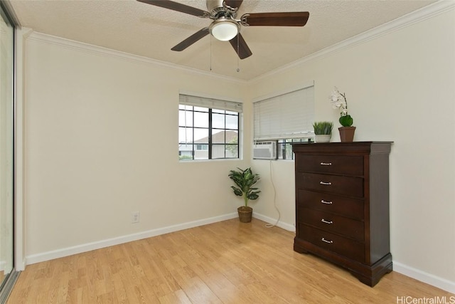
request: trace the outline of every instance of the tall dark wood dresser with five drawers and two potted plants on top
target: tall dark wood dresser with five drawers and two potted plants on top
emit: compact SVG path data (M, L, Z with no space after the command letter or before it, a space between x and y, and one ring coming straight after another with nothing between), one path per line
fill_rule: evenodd
M392 271L389 154L392 142L293 145L294 251L313 253L374 286Z

